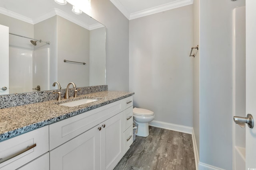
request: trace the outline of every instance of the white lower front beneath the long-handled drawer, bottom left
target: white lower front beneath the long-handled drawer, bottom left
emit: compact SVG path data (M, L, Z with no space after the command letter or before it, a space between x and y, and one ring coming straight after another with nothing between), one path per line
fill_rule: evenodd
M18 168L17 170L49 170L49 152L32 160L28 164Z

